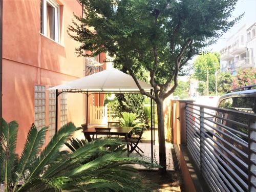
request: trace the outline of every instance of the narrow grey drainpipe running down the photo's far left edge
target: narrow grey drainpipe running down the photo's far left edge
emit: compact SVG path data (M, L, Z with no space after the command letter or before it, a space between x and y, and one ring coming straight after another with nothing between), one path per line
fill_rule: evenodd
M2 95L3 95L3 0L0 0L0 127L2 127Z

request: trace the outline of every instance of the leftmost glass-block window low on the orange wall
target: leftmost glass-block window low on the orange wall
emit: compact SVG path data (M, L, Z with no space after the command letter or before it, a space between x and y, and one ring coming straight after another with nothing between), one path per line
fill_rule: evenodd
M45 86L35 86L35 126L37 130L46 125Z

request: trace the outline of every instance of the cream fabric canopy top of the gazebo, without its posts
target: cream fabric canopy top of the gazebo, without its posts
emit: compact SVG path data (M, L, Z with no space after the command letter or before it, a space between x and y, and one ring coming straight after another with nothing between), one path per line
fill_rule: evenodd
M145 91L152 87L146 82L138 80ZM138 92L139 89L131 75L127 75L118 69L107 69L80 79L76 79L49 90L84 90L89 92Z

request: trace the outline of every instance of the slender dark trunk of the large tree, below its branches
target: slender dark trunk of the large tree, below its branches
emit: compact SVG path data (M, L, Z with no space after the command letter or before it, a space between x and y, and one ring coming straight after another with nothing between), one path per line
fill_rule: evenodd
M159 169L160 174L166 173L166 153L165 153L165 136L164 136L164 114L163 99L156 99L157 104L157 120L158 120L158 143L159 143Z

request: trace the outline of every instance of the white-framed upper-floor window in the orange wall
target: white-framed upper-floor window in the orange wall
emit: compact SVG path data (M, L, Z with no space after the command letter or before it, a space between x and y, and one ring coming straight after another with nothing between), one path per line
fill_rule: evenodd
M59 5L53 0L41 0L41 33L59 41Z

